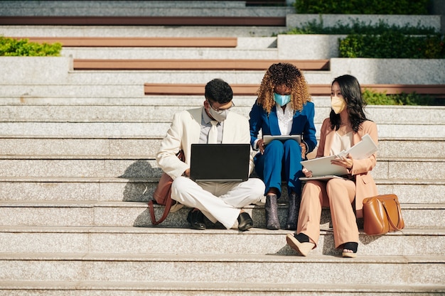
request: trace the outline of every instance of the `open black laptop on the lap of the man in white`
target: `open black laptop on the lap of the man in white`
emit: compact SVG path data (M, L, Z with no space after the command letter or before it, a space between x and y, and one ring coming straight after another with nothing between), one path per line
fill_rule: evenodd
M196 182L249 178L250 144L192 144L190 177Z

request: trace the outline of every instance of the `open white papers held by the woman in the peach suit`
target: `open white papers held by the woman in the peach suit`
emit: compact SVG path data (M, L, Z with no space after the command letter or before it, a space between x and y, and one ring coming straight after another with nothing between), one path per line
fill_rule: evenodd
M368 133L363 136L362 141L355 144L348 150L343 150L338 153L338 156L346 156L350 154L353 159L364 159L370 157L377 151L377 145L375 145L372 138ZM310 160L301 161L301 165L307 170L312 171L312 177L300 177L300 180L328 180L333 176L341 176L348 174L348 170L341 165L333 165L331 160L335 159L336 155L325 156L322 158L313 158Z

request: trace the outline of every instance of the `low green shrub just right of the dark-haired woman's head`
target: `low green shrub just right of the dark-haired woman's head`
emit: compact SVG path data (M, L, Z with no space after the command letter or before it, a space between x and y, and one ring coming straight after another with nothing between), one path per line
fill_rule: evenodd
M385 92L375 92L370 89L363 91L363 99L368 105L416 105L416 106L432 106L439 105L441 100L434 97L417 94L386 94Z

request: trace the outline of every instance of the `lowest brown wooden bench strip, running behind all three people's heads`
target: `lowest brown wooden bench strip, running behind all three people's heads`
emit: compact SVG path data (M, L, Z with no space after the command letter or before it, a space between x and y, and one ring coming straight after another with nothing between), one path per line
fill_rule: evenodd
M204 93L205 84L144 84L144 93L164 95L200 95ZM259 84L231 84L233 94L237 96L254 96L257 94ZM386 94L428 94L431 97L444 98L445 84L362 84L362 89L372 89L375 92ZM309 84L309 92L312 96L329 96L331 84Z

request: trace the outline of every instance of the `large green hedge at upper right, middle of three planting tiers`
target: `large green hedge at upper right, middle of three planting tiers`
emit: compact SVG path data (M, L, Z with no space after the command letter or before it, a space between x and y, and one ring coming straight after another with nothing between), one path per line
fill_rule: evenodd
M320 18L283 33L348 35L339 39L340 57L445 58L444 35L420 25L390 26L382 20L372 25L351 19L347 24L339 21L333 27L324 27Z

